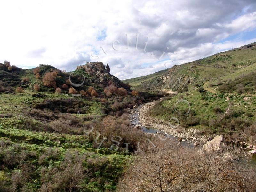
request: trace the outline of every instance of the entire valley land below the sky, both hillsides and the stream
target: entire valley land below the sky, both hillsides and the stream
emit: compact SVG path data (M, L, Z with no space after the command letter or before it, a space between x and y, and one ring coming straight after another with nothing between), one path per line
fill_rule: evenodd
M125 81L102 62L72 73L1 63L0 189L144 191L160 182L253 191L254 52L237 48Z

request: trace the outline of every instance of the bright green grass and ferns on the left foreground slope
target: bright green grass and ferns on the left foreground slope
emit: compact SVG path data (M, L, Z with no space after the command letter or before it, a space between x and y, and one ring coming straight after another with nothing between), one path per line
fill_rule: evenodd
M26 164L34 168L33 174L28 173L31 174L29 175L30 179L22 181L23 189L25 188L31 192L38 191L42 187L42 181L44 180L41 172L45 166L47 170L55 170L55 174L60 174L67 166L65 163L67 154L72 154L73 156L77 154L77 159L82 160L85 157L82 161L82 166L86 175L79 182L81 191L100 192L116 190L118 178L131 163L132 156L123 152L114 152L103 147L96 149L92 146L93 142L84 134L72 135L28 130L26 125L28 122L29 126L34 127L40 127L43 123L35 119L28 119L23 113L24 109L31 110L35 103L43 102L44 99L70 98L66 94L59 95L50 92L42 92L46 95L45 98L34 98L31 96L33 93L35 92L25 89L25 92L21 95L0 94L0 141L2 144L3 142L8 143L6 147L0 147L0 166L4 168L0 172L0 184L3 183L0 187L8 188L11 186L11 183L15 182L11 177L14 172L25 174L26 172L22 170L21 165ZM100 112L102 104L100 102L80 98L77 98L77 100L85 102L90 108L86 114L74 114L73 116L82 118L83 116L102 115ZM47 155L48 150L57 151L58 155L51 157ZM12 157L9 157L8 154L11 154ZM13 158L18 160L22 154L35 154L35 156L19 160L19 164L15 163L16 161ZM10 159L8 160L8 158ZM9 167L3 166L3 164L7 164L7 161L10 162ZM76 163L74 162L74 164ZM72 165L68 166L72 167ZM60 179L65 181L64 176ZM45 182L50 181L44 180ZM63 189L60 187L56 188L55 191L63 191Z

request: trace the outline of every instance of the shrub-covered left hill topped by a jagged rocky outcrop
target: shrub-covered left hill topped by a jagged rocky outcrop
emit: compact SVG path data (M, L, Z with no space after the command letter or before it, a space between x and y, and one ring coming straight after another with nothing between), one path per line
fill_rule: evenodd
M72 74L0 64L0 191L116 189L132 161L125 149L145 140L131 134L127 108L159 95L131 92L102 62L89 64Z

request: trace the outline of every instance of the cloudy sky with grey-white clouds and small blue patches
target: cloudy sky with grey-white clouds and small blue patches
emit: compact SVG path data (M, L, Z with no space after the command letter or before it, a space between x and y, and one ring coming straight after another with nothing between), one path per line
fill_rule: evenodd
M256 41L255 0L0 0L0 8L0 62L24 69L102 61L124 80Z

